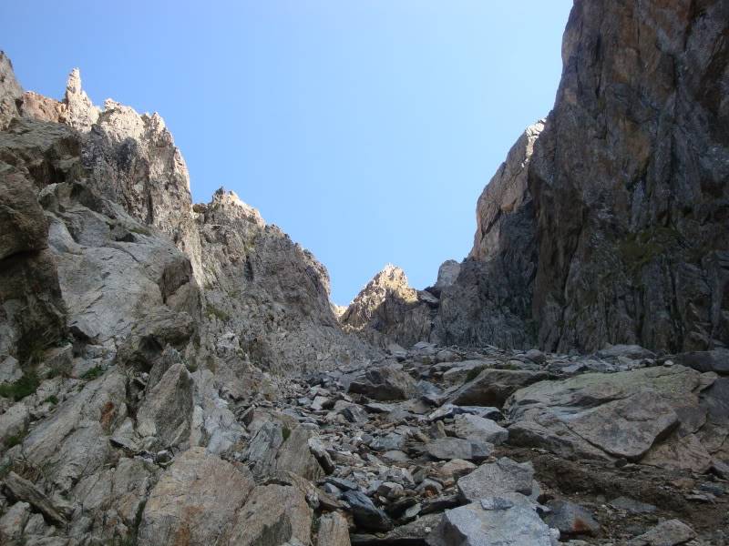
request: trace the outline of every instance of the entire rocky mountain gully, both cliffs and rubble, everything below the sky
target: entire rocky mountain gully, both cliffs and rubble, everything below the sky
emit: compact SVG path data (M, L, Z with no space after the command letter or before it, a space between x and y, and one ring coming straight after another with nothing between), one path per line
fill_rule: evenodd
M469 256L346 309L159 115L0 54L0 543L729 544L727 33L578 0Z

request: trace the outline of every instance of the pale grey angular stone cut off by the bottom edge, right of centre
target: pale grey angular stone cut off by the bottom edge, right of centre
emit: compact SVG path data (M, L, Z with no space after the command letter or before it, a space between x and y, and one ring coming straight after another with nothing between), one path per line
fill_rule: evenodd
M486 510L484 501L493 508ZM446 511L426 539L429 546L552 546L549 527L535 506L518 493L485 498Z

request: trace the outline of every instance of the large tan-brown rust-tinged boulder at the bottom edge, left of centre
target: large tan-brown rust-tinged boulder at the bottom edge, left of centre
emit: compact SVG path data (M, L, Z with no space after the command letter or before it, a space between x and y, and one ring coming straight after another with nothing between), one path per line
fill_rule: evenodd
M253 486L250 473L204 448L185 451L149 493L139 523L139 545L221 541Z

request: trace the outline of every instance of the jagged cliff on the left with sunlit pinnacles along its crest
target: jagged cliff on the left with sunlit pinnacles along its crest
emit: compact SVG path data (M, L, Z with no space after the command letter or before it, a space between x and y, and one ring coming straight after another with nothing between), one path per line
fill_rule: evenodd
M311 253L222 190L193 207L184 159L158 114L139 115L110 99L103 109L94 106L77 70L56 101L24 94L5 56L0 68L9 113L0 160L14 169L7 183L25 177L26 187L16 186L29 192L25 198L8 190L8 207L37 208L37 221L11 225L19 216L7 215L8 244L32 231L22 250L43 258L50 247L50 261L24 255L23 267L35 264L32 276L56 283L44 283L50 293L37 297L17 280L7 285L5 302L25 295L35 303L5 304L5 354L25 358L24 339L35 337L42 349L64 331L113 353L159 305L192 321L188 350L203 359L215 357L221 339L241 362L282 373L376 354L340 329L326 270ZM20 250L8 248L7 256ZM24 306L38 312L13 310ZM48 333L37 339L41 327Z

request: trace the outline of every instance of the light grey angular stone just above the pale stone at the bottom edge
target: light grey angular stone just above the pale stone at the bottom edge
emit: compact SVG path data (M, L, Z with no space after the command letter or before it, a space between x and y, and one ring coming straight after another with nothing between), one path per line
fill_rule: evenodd
M502 457L496 462L485 463L457 481L460 494L467 501L478 501L503 493L517 492L530 495L534 469L530 462L515 462Z

